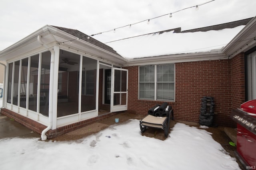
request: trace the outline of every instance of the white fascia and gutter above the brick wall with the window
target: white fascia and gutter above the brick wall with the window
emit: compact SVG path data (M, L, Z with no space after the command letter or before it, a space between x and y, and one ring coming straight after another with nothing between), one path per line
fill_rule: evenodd
M129 59L125 66L228 59L221 51Z

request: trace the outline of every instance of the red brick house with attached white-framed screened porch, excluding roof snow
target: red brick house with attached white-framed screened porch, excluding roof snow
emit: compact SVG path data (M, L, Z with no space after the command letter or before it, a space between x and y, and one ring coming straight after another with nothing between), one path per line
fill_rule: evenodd
M1 112L44 140L119 111L147 115L163 102L175 119L197 122L201 98L211 96L215 123L234 126L231 109L256 98L256 18L154 33L239 25L245 26L219 49L132 59L78 30L46 25L0 52L7 63Z

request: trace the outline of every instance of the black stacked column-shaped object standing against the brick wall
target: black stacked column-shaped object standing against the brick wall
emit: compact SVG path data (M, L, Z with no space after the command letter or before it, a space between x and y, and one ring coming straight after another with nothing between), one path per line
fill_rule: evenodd
M199 124L211 127L213 125L213 116L214 116L214 98L203 97L201 99Z

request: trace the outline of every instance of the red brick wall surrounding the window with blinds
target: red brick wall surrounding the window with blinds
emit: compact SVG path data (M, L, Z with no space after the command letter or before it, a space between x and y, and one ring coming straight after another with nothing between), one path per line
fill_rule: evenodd
M169 102L174 119L198 122L201 98L211 96L215 102L214 123L233 127L230 112L244 101L243 60L240 54L220 61L176 63L175 102ZM147 115L148 109L163 102L138 100L138 66L126 69L129 72L127 112Z

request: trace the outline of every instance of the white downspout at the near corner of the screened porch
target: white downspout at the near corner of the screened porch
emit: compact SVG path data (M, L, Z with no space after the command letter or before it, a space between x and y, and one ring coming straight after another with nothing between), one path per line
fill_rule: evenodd
M49 125L44 129L41 133L41 139L44 141L47 139L47 136L45 135L48 130L52 128L52 87L53 87L53 74L54 74L54 50L50 48L48 45L42 42L41 35L37 36L37 41L43 45L46 49L48 49L51 52L51 64L50 64L50 82L49 82ZM51 89L51 90L50 90Z

